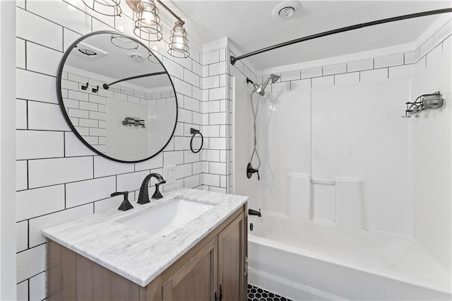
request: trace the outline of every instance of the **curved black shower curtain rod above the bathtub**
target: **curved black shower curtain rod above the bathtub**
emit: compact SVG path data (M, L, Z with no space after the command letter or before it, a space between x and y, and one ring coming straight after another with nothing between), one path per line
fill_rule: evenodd
M295 39L295 40L290 40L288 42L284 42L284 43L280 43L277 45L273 45L270 47L266 47L263 49L259 49L256 50L254 52L249 52L247 54L243 54L239 57L234 57L231 56L231 64L234 65L236 61L239 61L240 59L244 59L246 57L251 57L253 55L256 54L261 54L263 52L268 52L270 50L273 49L277 49L280 47L285 47L288 45L292 45L295 43L299 43L299 42L304 42L304 41L308 41L308 40L314 40L318 37L326 37L327 35L335 35L336 33L344 33L345 31L349 31L349 30L355 30L355 29L359 29L359 28L364 28L367 26L372 26L372 25L378 25L378 24L383 24L383 23L389 23L389 22L394 22L394 21L399 21L399 20L405 20L405 19L411 19L411 18L419 18L419 17L424 17L424 16L431 16L431 15L437 15L439 13L452 13L452 8L443 8L443 9L436 9L435 11L424 11L422 13L410 13L409 15L404 15L404 16L398 16L398 17L393 17L393 18L386 18L386 19L381 19L381 20L376 20L376 21L371 21L371 22L367 22L367 23L361 23L361 24L357 24L357 25L351 25L351 26L346 26L343 28L338 28L338 29L334 29L334 30L328 30L326 32L323 33L316 33L315 35L308 35L307 37L300 37L299 39Z

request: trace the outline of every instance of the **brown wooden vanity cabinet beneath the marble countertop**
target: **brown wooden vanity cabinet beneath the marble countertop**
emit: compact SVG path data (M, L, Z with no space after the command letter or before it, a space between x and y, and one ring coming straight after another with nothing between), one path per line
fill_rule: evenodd
M47 300L246 300L246 204L145 288L48 240Z

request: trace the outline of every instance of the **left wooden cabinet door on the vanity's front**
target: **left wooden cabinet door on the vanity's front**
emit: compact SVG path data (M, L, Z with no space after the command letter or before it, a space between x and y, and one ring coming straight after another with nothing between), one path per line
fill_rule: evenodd
M162 301L212 301L217 287L217 237L162 285Z

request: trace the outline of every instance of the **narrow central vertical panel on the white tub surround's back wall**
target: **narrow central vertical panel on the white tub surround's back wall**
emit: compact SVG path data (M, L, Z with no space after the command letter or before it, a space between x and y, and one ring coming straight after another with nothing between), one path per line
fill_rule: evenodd
M335 87L312 89L311 177L319 181L335 178Z

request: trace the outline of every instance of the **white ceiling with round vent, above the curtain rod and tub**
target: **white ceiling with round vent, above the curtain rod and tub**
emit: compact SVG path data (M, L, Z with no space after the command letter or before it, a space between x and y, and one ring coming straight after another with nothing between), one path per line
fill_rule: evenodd
M298 16L283 20L271 11L281 1L172 1L189 37L201 44L229 39L237 55L348 25L450 8L452 1L300 1ZM352 30L249 57L257 70L414 42L441 15Z

